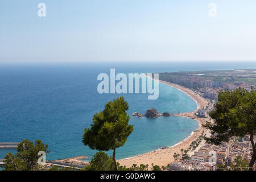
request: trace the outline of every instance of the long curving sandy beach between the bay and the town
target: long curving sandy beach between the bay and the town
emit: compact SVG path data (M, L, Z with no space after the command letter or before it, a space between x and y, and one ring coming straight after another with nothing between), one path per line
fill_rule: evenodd
M199 94L193 92L192 90L190 90L188 88L184 88L183 86L176 85L176 84L171 84L166 81L159 80L159 82L162 82L163 84L172 86L176 89L179 89L181 92L188 94L188 96L190 96L191 98L193 98L193 100L195 100L197 102L197 105L198 105L197 109L203 109L203 107L205 107L209 104L207 100L205 100L203 97L199 96ZM199 122L199 129L197 129L196 131L193 131L192 135L190 137L188 137L187 139L183 140L180 143L175 144L175 146L156 150L156 151L147 152L145 154L134 156L132 158L121 159L121 160L118 160L118 162L121 164L121 166L126 166L126 167L130 167L133 164L138 164L138 165L139 164L148 164L148 166L151 167L152 163L162 167L162 166L167 166L168 164L174 162L174 157L173 157L174 153L181 155L181 152L180 152L181 148L183 148L184 150L187 150L189 148L189 145L193 141L195 141L198 137L200 137L200 135L203 132L207 133L207 135L209 134L201 126L205 121L208 120L208 118L196 118L194 115L194 113L196 111L197 110L192 111L191 113L176 114L180 117L192 118L192 119L195 119L197 122ZM204 140L203 140L203 142L201 142L200 146L203 143L204 143Z

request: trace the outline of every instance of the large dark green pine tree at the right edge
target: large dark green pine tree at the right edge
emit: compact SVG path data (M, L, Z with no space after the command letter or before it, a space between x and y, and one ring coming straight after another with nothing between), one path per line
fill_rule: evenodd
M250 92L241 88L220 92L218 102L209 116L214 122L203 125L212 134L209 138L205 137L208 143L220 144L228 142L231 137L250 135L253 155L249 166L253 167L256 160L256 147L253 141L253 136L256 134L255 89L251 88Z

